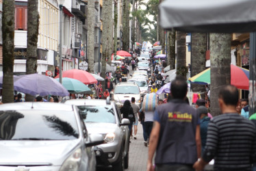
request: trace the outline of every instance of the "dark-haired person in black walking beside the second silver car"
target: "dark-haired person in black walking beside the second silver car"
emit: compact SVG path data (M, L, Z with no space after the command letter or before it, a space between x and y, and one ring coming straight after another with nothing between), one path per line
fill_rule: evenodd
M133 114L133 109L131 107L131 103L129 100L126 100L123 107L120 108L121 114L123 114L123 118L127 118L130 120L130 124L128 125L130 135L131 135L131 128L133 125L133 122L135 122L135 116Z

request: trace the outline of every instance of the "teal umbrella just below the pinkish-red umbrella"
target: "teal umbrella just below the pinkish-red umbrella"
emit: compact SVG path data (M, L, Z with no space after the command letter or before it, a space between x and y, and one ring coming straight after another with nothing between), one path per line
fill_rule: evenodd
M57 79L57 81L60 81L60 79ZM68 90L70 93L87 93L91 92L90 88L86 86L81 81L78 81L77 79L71 79L68 77L62 78L62 86ZM90 93L89 93L90 94Z

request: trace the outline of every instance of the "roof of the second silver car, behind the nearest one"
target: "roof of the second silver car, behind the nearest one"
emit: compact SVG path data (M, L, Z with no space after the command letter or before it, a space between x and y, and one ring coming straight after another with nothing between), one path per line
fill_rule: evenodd
M110 101L110 104L106 103L105 99L85 99L85 98L79 98L79 99L71 99L68 101L65 101L65 104L67 105L92 105L92 106L106 106L106 105L112 105L113 102Z

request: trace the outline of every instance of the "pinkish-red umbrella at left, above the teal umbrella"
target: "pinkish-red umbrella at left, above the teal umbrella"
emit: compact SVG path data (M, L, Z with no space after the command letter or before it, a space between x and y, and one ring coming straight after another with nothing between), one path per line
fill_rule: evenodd
M97 83L97 79L95 79L90 73L85 70L66 70L62 73L62 77L68 77L71 79L77 79L84 84L92 84ZM60 78L60 75L57 75L55 79Z

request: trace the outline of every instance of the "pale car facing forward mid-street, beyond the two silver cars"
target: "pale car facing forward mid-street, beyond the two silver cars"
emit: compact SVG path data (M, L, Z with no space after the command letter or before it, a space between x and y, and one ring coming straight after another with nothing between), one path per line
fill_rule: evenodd
M140 107L141 96L140 88L136 83L118 83L114 88L113 99L116 102L118 107L123 106L123 103L126 100L131 101L131 97L134 97L136 100L136 105Z

